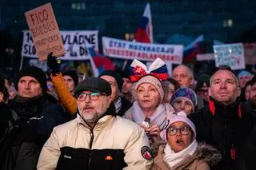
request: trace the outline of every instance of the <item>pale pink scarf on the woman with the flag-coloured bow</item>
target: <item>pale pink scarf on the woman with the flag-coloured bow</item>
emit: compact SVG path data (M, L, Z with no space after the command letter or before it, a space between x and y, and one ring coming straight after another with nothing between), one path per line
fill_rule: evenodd
M145 114L142 109L139 107L138 102L135 101L132 108L132 120L138 124L142 124L145 120ZM160 129L163 128L164 122L166 121L166 107L165 105L158 105L158 108L150 117L150 125L156 124Z

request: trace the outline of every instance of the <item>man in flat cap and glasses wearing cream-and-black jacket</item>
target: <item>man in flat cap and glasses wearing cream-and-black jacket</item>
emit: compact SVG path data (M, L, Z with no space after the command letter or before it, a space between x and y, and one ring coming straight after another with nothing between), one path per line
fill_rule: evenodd
M78 116L54 128L42 148L38 170L150 169L145 132L117 116L110 95L110 84L102 78L86 78L76 87Z

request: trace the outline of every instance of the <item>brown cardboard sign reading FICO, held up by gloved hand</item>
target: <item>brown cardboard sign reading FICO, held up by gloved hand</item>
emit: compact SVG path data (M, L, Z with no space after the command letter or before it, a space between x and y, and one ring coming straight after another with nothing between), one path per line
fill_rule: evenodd
M39 61L53 52L56 57L65 54L61 34L50 3L25 13Z

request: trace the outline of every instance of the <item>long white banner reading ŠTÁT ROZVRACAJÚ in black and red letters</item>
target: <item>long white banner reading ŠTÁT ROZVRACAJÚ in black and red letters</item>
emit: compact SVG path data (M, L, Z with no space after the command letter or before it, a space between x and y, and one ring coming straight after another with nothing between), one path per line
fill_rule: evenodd
M108 57L141 61L154 61L159 57L173 64L182 64L183 45L146 44L103 37L102 48Z

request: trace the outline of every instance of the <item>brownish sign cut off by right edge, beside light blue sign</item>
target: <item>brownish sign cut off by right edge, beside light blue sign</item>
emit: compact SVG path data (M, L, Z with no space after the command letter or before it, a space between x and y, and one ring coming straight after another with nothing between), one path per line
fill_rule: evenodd
M243 44L243 50L245 53L246 65L256 64L256 43Z

